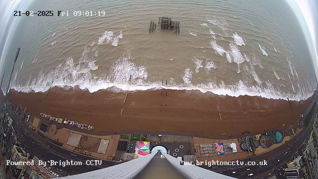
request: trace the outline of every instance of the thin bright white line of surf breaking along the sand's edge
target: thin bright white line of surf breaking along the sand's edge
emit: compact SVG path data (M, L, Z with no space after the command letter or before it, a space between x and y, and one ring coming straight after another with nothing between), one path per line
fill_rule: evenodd
M161 84L161 85L159 85ZM281 91L272 91L272 89L258 89L255 86L246 87L244 84L240 86L215 86L211 84L197 84L196 86L189 86L189 87L182 87L182 86L167 86L163 85L164 82L161 83L154 82L152 85L155 86L138 86L138 85L131 85L131 84L114 84L114 83L103 83L101 86L83 86L83 85L53 85L52 88L61 88L65 90L87 90L90 93L98 92L98 91L111 91L115 93L120 92L140 92L140 91L153 91L153 90L188 90L188 91L200 91L202 93L213 93L215 95L224 95L224 96L231 96L231 97L239 97L239 96L257 96L263 97L267 99L283 99L283 100L294 100L294 101L302 101L309 99L314 92L304 92L303 95L297 93L284 93ZM166 83L165 83L166 84ZM39 87L39 88L31 88L31 87L21 87L21 86L13 86L11 90L15 90L18 92L23 93L31 93L31 92L47 92L50 88L46 87ZM249 91L249 89L252 89Z

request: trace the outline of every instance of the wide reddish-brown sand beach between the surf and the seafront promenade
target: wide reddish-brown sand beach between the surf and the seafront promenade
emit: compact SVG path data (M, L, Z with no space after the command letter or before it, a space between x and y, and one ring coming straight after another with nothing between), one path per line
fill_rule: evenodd
M162 89L129 92L124 104L125 92L99 90L90 93L52 88L41 106L45 95L46 92L11 90L9 99L12 105L21 103L22 109L26 106L33 115L44 112L94 125L93 132L151 130L218 137L223 133L228 137L246 131L283 128L283 124L287 126L300 119L300 113L314 99L312 96L306 101L290 101L290 105L287 100L258 96L231 97L198 90Z

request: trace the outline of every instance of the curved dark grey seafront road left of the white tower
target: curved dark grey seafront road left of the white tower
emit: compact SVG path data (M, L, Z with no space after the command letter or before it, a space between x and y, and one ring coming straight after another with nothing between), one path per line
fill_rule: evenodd
M81 155L69 150L66 150L52 142L46 140L35 131L33 131L27 124L20 120L19 117L12 111L7 111L11 119L13 120L13 128L15 129L17 135L21 138L23 142L29 147L29 149L40 159L54 160L54 161L81 161L82 166L68 166L68 167L59 167L56 168L63 169L67 173L80 174L85 172L90 172L105 167L110 167L118 163L101 160L101 166L87 166L85 163L87 160L100 160L93 157L88 157ZM51 146L50 148L48 147Z

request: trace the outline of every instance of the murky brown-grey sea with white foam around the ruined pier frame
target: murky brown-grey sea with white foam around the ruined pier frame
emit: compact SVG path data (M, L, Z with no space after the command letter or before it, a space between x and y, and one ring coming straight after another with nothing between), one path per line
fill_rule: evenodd
M54 80L90 92L199 89L301 100L317 87L306 40L285 0L34 0L28 10L55 14L19 22L7 51L13 58L21 47L11 85L18 91L45 91ZM93 16L74 16L76 10ZM162 16L180 21L179 35L159 30Z

